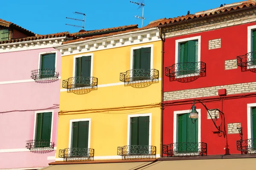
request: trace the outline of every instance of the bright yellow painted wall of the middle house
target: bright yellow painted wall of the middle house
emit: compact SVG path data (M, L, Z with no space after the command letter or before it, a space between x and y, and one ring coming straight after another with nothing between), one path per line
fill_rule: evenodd
M153 44L153 68L159 71L160 78L161 41L157 41L90 52L93 53L93 77L98 78L98 86L120 83L119 74L130 70L131 47L149 44ZM73 55L61 59L61 80L73 77ZM127 145L128 115L152 113L151 145L156 146L157 154L160 154L160 105L150 104L161 102L161 81L145 88L133 88L121 83L98 87L81 95L61 92L60 111L75 112L59 113L57 153L59 149L68 148L70 119L91 118L90 148L95 149L94 156L116 156L117 147ZM140 105L145 106L130 108Z

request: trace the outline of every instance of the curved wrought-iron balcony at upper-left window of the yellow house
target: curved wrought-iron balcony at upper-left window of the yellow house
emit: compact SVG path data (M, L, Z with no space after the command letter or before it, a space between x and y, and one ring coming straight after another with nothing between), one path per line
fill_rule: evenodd
M97 90L98 78L96 77L70 77L62 81L62 87L67 89L67 92L75 94L85 94L92 90Z

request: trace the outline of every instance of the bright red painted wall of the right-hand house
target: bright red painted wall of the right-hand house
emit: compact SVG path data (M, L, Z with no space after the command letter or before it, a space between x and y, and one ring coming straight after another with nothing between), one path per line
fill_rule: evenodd
M195 81L187 83L177 81L170 82L169 77L164 76L164 92L255 82L256 73L250 71L241 72L240 67L232 70L224 69L225 60L236 59L237 56L247 53L247 27L252 25L256 25L256 23L166 39L164 43L164 67L175 64L175 40L201 35L201 61L205 62L207 65L207 74L206 77L199 77ZM209 50L208 41L219 38L221 38L221 48ZM174 111L189 110L192 106L192 102L182 104L181 101L183 100L180 100L180 103L177 102L175 105L164 107L163 144L173 143ZM221 108L223 107L222 111L225 114L225 122L223 125L225 125L226 130L228 123L241 122L241 127L243 127L243 139L247 139L247 103L255 102L256 97L240 97L236 99L224 99L223 106L221 99L205 104L209 109L218 108L222 110ZM212 120L207 119L206 109L200 103L197 103L196 107L197 109L201 108L201 142L207 143L207 154L225 154L227 150L224 150L224 147L227 148L227 145L230 154L241 154L241 152L236 149L236 141L240 139L239 134L227 134L225 138L224 136L219 137L218 134L212 132L212 130L215 130L215 127Z

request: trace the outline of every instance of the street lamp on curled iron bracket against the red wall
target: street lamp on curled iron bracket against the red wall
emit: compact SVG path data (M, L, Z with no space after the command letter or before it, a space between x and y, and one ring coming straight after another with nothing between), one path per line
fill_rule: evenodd
M204 103L202 103L200 100L197 100L197 99L193 99L193 103L192 103L192 107L191 107L191 112L189 113L189 118L192 120L192 122L193 122L193 119L195 121L198 119L198 111L196 111L195 101L201 103L204 106L204 108L207 110L207 113L209 114L210 118L212 119L212 122L215 125L215 127L217 128L217 130L219 132L224 133L224 131L222 131L220 129L220 127L222 125L222 117L224 116L224 113L222 111L218 110L218 109L208 109L206 107L206 105L204 105ZM212 115L209 113L209 111L215 111L214 112L214 118L212 118ZM218 115L216 114L217 111L219 112L219 117L221 118L221 123L220 123L219 126L217 126L216 123L215 123L215 121L218 119Z

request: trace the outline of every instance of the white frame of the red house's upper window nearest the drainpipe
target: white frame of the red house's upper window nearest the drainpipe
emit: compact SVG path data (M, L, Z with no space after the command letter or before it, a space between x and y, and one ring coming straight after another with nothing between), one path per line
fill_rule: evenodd
M180 58L180 43L186 42L189 40L198 40L198 61L201 61L201 35L195 36L195 37L189 37L189 38L183 38L179 40L175 40L175 64L178 63L179 58ZM201 68L201 65L198 65ZM177 68L175 68L175 72ZM185 75L177 75L175 74L175 78L183 78L183 77L192 77L192 76L199 76L199 73L194 73L194 74L185 74Z

